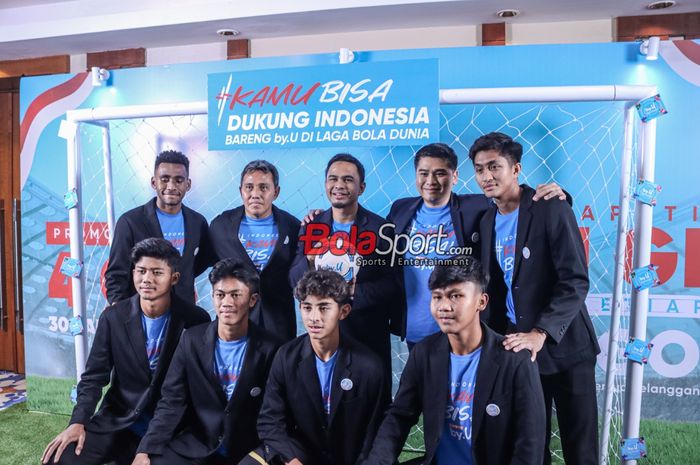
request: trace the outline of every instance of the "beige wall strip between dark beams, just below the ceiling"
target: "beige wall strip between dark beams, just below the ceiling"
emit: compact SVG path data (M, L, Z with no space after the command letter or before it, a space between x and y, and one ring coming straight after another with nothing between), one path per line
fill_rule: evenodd
M506 26L509 45L611 42L613 20L559 23L512 23ZM351 50L470 47L479 45L480 26L426 27L378 31L343 32L251 40L251 56L304 55ZM149 48L146 64L158 66L226 59L226 42ZM71 71L85 70L85 55L71 57Z

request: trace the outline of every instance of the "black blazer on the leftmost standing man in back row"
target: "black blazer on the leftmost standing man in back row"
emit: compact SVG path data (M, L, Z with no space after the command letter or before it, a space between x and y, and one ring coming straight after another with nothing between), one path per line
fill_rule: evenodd
M180 281L175 293L182 299L194 302L194 278L206 270L211 260L211 248L207 220L191 208L182 206L185 222L185 249L177 271ZM112 246L109 248L109 264L105 272L107 300L115 303L136 294L131 278L132 264L129 256L137 242L149 237L163 237L156 216L156 199L136 207L119 217L114 227Z

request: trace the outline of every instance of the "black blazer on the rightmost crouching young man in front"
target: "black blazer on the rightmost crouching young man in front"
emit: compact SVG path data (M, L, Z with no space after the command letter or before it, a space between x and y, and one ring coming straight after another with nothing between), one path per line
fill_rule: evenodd
M541 465L546 422L537 366L529 352L508 352L502 336L486 325L481 328L484 337L472 404L474 464ZM450 395L450 350L443 333L416 344L365 465L393 464L421 413L426 452L422 463L433 462ZM497 415L487 413L493 409L490 405L498 406Z

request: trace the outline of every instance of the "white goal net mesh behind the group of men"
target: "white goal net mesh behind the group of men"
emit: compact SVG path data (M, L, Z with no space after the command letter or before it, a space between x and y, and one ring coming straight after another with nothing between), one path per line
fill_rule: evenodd
M502 131L523 144L522 182L536 186L554 181L573 197L574 212L582 227L589 257L589 308L604 350L597 369L598 385L603 386L617 222L617 218L611 219L611 211L619 195L622 104L452 105L443 106L441 113L441 141L451 145L460 159L457 193L480 192L467 157L471 142L490 131ZM101 128L89 124L80 127L84 221L105 222ZM117 217L153 196L150 188L153 161L157 153L165 149L181 150L189 156L192 190L185 203L208 220L225 209L240 205L241 169L258 158L277 166L282 192L276 204L299 218L310 208L326 208L323 173L327 160L339 151L353 153L365 165L367 189L360 201L368 209L384 216L394 200L417 195L412 158L417 146L210 152L204 115L115 120L109 122L109 128ZM86 247L88 319L96 320L106 304L99 277L107 257L107 247ZM203 274L197 279L199 304L212 308L207 287ZM302 328L301 324L299 327ZM626 339L626 328L625 318L622 341ZM398 339L392 341L392 346L396 388L408 353ZM611 430L614 454L617 454L615 444L621 433L621 386L624 384L622 350L617 355L622 364L615 378ZM602 408L604 395L601 391L599 389ZM558 447L557 444L555 438L553 448ZM415 428L406 449L419 451L422 447L422 431ZM555 462L563 463L560 451L554 454Z

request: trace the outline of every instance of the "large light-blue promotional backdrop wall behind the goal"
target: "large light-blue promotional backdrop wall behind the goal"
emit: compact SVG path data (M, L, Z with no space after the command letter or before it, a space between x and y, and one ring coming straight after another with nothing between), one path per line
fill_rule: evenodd
M413 155L427 142L443 142L457 152L455 193L479 193L468 149L482 134L502 131L523 144L523 182L536 186L555 181L573 197L574 213L587 248L587 303L603 349L596 371L602 393L621 211L624 103L441 105L437 117L432 106L440 89L655 85L668 113L657 120L655 183L662 190L654 207L651 262L658 266L660 284L650 293L648 342L654 346L644 371L642 415L700 421L700 201L695 187L700 172L700 132L693 116L700 108L700 63L693 58L700 56L700 44L663 41L660 59L655 62L644 60L638 49L635 44L610 43L395 50L359 53L361 63L357 64L339 64L336 54L235 60L114 70L113 84L107 87L92 87L88 74L24 78L20 93L22 265L30 407L69 411L69 394L75 384L74 342L69 327L71 282L60 272L60 264L69 254L68 212L63 203L68 176L66 140L59 135L66 111L205 101L210 108L208 115L135 115L99 122L103 126L79 127L83 273L87 279L84 326L89 338L107 305L102 283L109 252L105 147L111 155L111 199L117 216L153 197L153 162L165 149L181 150L189 157L192 188L184 203L208 221L225 209L241 205L241 170L256 159L272 162L280 172L281 192L275 201L279 208L297 218L311 208L328 208L324 173L326 163L336 153L351 153L364 164L366 189L360 203L386 216L395 200L418 195ZM375 66L376 72L363 71L374 70ZM353 85L363 79L371 82L356 87L359 94L353 93ZM389 80L391 86L381 87ZM332 101L321 101L326 92L322 85L333 81L344 84L336 84L335 94L328 85L324 99ZM309 93L306 102L301 100L316 83L319 86ZM294 86L288 87L290 84ZM248 92L252 93L244 96ZM373 93L376 97L370 102ZM360 95L361 101L351 101ZM418 99L413 100L416 95ZM292 99L296 105L292 105ZM362 122L357 120L360 113L353 112L363 110L369 115L379 109L402 107L428 108L427 123L416 123L418 113L414 113L414 123L427 128L427 139L388 140L392 129L401 130L398 110L393 126L382 126L387 137L384 140L352 140L354 131L374 130L377 134L380 125L355 127L352 118L346 126L337 125L341 114L356 114L356 122ZM292 128L294 118L284 115L300 112L308 113L308 127ZM326 126L317 127L317 114L329 118ZM331 114L335 115L333 125ZM409 115L406 113L406 118ZM253 125L252 130L241 130L244 120L246 125ZM270 122L275 121L291 126L272 130ZM433 132L433 124L439 132ZM109 128L106 136L105 126ZM229 126L235 129L229 130ZM347 140L320 140L314 136L317 138L313 143L302 144L301 134L307 131L348 133ZM293 132L298 134L295 142L291 140ZM269 143L264 143L263 134L270 134ZM227 144L229 137L238 139ZM279 139L283 137L287 139ZM206 273L197 278L196 287L199 304L213 313ZM626 282L627 298L630 289ZM627 338L628 323L629 315L625 313L623 340ZM405 345L395 339L392 347L398 379L406 359ZM618 373L624 371L620 365ZM616 395L623 394L623 387L616 385Z

